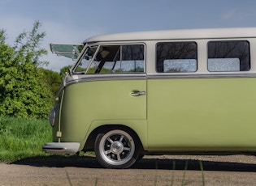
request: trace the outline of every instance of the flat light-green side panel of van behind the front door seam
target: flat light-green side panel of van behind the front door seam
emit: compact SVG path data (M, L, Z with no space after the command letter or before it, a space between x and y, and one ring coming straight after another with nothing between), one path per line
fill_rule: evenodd
M148 80L149 150L256 150L256 78Z

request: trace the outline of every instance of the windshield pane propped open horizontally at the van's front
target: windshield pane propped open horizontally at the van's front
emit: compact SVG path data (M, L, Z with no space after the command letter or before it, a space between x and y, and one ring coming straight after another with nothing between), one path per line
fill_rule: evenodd
M84 44L50 44L50 50L58 56L76 60L84 46Z

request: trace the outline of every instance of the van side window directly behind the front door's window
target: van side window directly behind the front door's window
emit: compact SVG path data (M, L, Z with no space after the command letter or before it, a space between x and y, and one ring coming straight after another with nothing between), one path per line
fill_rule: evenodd
M197 71L196 42L158 43L156 55L158 73Z

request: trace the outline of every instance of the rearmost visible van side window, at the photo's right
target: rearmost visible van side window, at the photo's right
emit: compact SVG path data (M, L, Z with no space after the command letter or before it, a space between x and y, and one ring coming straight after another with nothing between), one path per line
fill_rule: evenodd
M228 40L208 42L208 70L210 72L249 71L249 42Z

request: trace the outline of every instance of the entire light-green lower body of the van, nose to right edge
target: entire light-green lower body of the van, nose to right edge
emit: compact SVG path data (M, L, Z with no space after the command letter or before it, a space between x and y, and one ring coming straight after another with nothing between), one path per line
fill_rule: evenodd
M256 78L75 83L65 87L60 109L57 104L54 142L80 142L82 150L93 129L125 125L148 151L255 151L255 85Z

